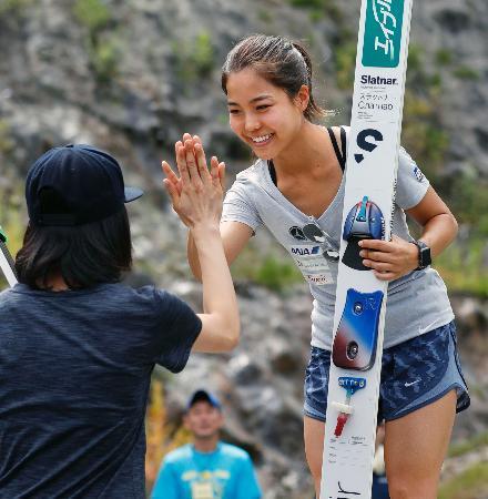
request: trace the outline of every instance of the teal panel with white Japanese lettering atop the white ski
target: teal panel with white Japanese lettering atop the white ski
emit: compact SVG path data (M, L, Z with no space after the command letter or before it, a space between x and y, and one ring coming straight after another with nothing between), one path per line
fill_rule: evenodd
M363 65L396 68L400 59L404 0L368 0Z

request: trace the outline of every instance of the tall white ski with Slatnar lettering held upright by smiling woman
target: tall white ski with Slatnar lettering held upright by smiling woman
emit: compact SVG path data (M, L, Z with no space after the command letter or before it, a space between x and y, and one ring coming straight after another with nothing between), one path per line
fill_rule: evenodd
M321 499L372 497L387 283L358 242L390 238L413 0L362 0Z

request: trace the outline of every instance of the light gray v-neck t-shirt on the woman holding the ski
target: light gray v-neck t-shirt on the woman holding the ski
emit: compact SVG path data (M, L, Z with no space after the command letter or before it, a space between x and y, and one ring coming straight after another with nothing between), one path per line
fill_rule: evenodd
M400 147L393 234L413 241L404 210L416 206L425 196L428 180ZM311 222L328 235L332 249L338 252L342 237L344 176L338 192L318 218L301 212L276 187L266 161L258 160L237 174L225 200L222 221L241 222L253 231L266 226L291 254L308 282L314 306L312 345L332 348L337 263L325 259L317 244L303 241L301 228ZM443 326L454 318L446 286L434 268L415 271L388 285L385 348Z

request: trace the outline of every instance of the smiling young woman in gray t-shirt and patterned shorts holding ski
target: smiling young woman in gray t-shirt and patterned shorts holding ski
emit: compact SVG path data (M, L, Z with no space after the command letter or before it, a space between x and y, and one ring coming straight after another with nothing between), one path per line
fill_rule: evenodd
M252 35L234 47L223 67L222 88L232 130L257 156L225 196L221 234L227 262L265 225L305 268L315 298L304 436L318 496L337 262L324 252L326 256L311 265L308 252L301 249L314 244L303 231L311 223L324 235L329 255L339 248L347 130L314 124L322 112L312 94L311 59L303 47L279 37ZM186 134L184 141L186 153L194 147L192 161L203 167L199 138ZM185 167L181 154L177 162ZM163 167L176 203L180 180L167 164ZM405 213L423 226L419 242L410 237ZM446 287L437 272L419 261L418 247L428 246L435 257L456 232L449 208L401 149L393 241L365 241L360 253L364 265L390 283L379 416L386 419L393 498L436 497L456 410L469 405ZM200 277L195 243L190 234L189 259Z

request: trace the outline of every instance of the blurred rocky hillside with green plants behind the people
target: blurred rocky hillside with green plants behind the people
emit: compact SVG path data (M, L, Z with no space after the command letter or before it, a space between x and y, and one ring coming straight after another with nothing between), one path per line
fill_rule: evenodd
M227 183L250 164L228 128L220 67L251 32L305 42L327 124L347 124L359 0L0 0L0 223L21 244L31 161L47 149L92 143L121 160L126 183L148 195L130 206L134 285L167 287L200 308L185 231L161 186L183 132L199 133L227 163ZM403 144L460 223L436 261L459 324L472 406L456 422L443 498L488 497L488 3L416 1ZM417 231L417 227L413 227ZM311 497L302 442L308 356L307 287L261 231L233 267L242 343L195 355L179 376L154 374L148 414L148 485L162 456L189 436L181 411L196 386L222 398L224 436L253 456L266 498ZM2 282L0 284L4 286ZM203 385L204 380L204 385ZM433 425L435 421L433 421Z

